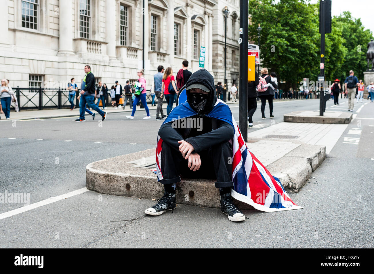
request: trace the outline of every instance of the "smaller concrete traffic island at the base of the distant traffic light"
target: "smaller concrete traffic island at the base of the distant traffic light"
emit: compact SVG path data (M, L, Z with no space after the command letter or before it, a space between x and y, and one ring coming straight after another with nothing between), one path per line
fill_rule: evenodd
M352 121L351 112L325 111L319 116L319 111L293 111L283 115L285 122L319 123L319 124L349 124Z

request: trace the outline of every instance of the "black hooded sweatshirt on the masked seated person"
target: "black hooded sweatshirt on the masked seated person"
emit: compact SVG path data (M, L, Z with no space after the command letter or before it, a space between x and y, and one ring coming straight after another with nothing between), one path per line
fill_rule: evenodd
M205 116L205 114L211 112L217 102L214 78L206 69L199 69L191 75L190 79L188 79L186 83L188 104L196 111L196 108L194 108L191 103L191 94L188 90L189 85L196 83L203 84L210 90L203 111L197 115L188 117L199 119L201 127L181 128L183 127L181 121L179 123L178 121L175 121L163 124L159 129L159 136L162 140L174 147L175 150L179 150L180 144L178 141L180 140L186 140L193 146L194 152L200 152L216 144L225 143L234 137L234 129L229 123ZM178 128L178 126L180 128Z

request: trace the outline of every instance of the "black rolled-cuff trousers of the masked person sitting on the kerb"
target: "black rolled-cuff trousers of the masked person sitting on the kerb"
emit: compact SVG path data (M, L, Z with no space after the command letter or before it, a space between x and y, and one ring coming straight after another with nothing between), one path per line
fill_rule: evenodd
M161 169L162 184L174 184L181 181L180 175L186 178L217 179L215 187L232 187L232 156L233 151L229 142L211 146L199 152L201 166L199 170L188 168L179 150L175 150L165 141L162 142Z

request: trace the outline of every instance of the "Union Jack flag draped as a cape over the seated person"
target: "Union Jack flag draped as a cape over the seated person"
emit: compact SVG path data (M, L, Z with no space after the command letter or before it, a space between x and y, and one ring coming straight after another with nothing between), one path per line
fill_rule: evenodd
M197 113L187 102L179 104L169 114L164 123L175 119L187 118ZM301 209L284 190L278 178L272 176L266 167L249 151L236 124L229 106L217 99L214 108L206 116L229 123L234 128L232 157L231 195L255 209L265 212ZM163 179L161 170L162 138L157 136L156 162L157 179Z

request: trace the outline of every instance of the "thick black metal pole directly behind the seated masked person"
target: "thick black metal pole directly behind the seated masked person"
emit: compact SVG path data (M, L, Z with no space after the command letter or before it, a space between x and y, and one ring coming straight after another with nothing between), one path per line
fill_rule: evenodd
M248 141L248 0L240 0L240 34L242 43L239 44L239 129L244 141Z

